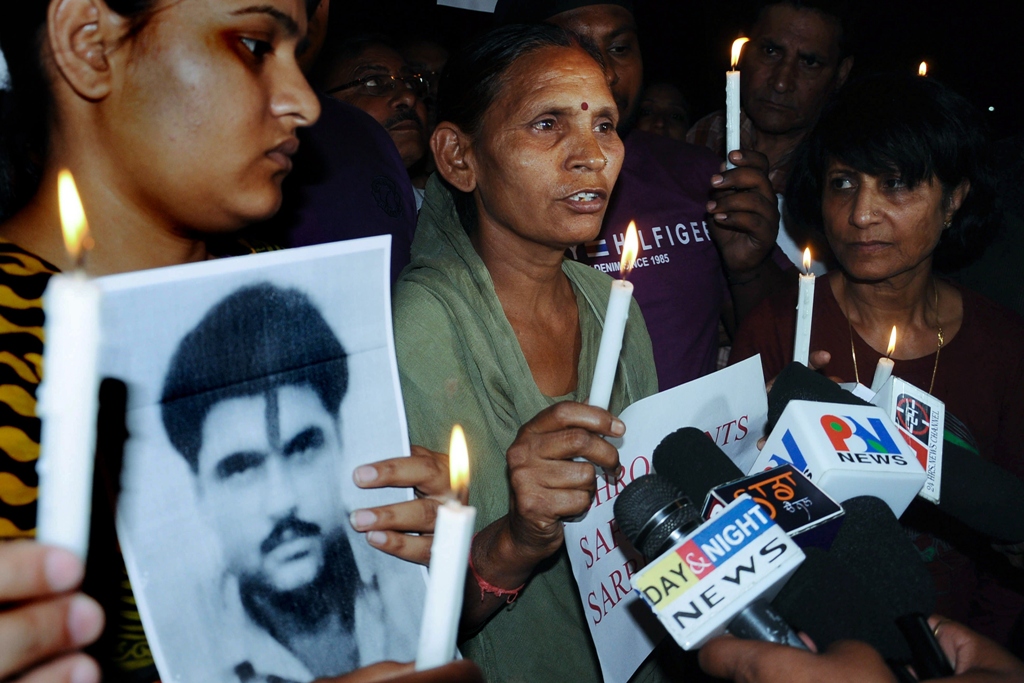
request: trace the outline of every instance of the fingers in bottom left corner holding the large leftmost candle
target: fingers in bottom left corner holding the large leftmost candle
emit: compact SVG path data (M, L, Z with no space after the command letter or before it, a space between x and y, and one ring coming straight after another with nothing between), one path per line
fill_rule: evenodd
M103 630L103 610L71 593L85 568L67 550L31 541L0 543L0 679L99 681L99 667L75 653ZM19 679L20 680L20 679Z

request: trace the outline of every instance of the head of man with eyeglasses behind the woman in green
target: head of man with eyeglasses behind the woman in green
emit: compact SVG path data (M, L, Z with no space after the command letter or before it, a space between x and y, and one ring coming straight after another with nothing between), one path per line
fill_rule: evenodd
M426 184L427 80L414 74L382 36L359 36L321 57L314 81L325 94L352 104L377 120L394 140L417 191L417 209Z

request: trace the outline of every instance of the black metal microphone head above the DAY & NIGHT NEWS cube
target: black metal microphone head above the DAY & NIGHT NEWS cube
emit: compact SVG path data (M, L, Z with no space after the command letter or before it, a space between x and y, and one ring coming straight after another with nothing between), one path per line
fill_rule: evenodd
M615 497L615 521L633 547L652 560L672 547L679 533L699 526L700 513L668 479L639 476Z

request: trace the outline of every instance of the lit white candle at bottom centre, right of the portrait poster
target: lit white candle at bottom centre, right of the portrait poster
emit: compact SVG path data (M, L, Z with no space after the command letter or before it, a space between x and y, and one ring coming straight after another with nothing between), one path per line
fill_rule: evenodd
M452 499L437 508L434 540L430 545L430 580L427 602L420 626L420 645L416 651L416 670L433 669L455 658L462 598L466 591L469 544L473 540L476 508L463 505L460 499L469 492L469 454L462 427L452 429L449 449Z

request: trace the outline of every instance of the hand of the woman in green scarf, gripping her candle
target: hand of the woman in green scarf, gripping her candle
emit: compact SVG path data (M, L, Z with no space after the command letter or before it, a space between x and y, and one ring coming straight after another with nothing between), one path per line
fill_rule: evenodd
M506 454L512 484L508 529L524 557L540 561L558 550L562 520L590 508L594 465L618 471L618 451L603 437L624 433L626 425L607 411L569 401L541 411L519 428Z

